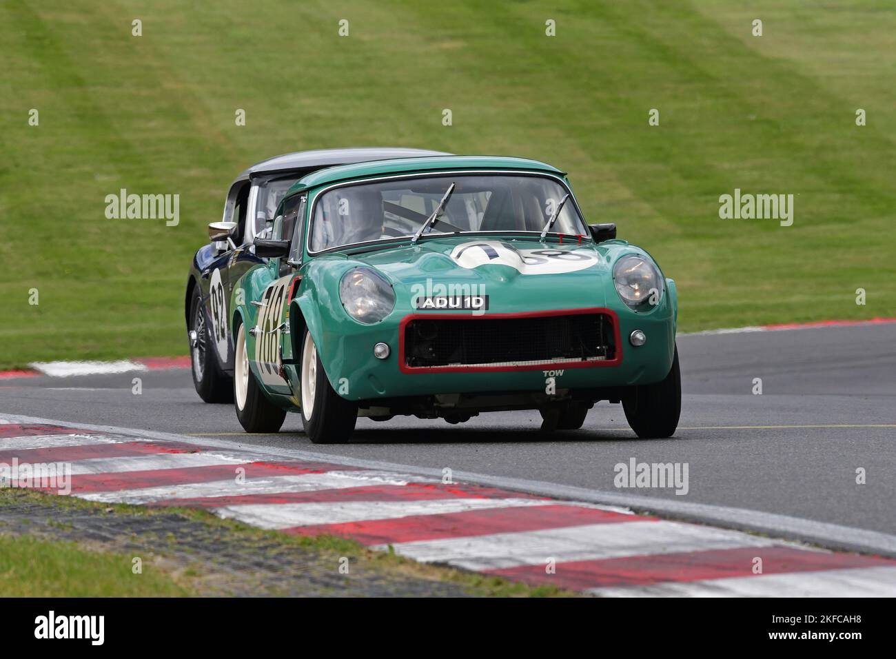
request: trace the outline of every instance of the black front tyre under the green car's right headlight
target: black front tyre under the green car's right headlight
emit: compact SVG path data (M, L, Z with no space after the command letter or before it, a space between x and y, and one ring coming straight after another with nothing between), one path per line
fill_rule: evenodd
M678 370L678 349L668 376L654 385L633 386L623 398L628 425L638 437L672 437L681 415L681 372Z

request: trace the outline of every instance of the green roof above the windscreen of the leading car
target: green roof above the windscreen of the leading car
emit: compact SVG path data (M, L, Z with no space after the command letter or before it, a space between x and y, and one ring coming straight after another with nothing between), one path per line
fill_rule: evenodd
M521 171L539 171L565 176L565 172L553 165L539 160L512 158L509 156L453 156L441 154L419 158L400 158L393 160L369 160L354 164L329 167L311 172L301 178L288 194L298 190L322 186L352 178L366 178L383 174L403 174L417 171L433 171L438 169L514 169Z

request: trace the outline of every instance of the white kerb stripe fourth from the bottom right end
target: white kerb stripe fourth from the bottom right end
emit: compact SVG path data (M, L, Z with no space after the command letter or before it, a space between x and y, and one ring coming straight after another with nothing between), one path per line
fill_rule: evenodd
M88 492L76 494L81 499L103 501L105 503L143 504L165 499L194 499L207 497L227 497L246 494L280 494L284 492L310 492L315 490L341 490L369 485L371 482L383 485L407 485L408 481L377 474L375 481L358 472L304 473L291 476L270 476L263 478L247 477L243 483L234 478L227 481L194 482L177 485L159 485L151 488L135 488L134 490L117 490L111 492Z

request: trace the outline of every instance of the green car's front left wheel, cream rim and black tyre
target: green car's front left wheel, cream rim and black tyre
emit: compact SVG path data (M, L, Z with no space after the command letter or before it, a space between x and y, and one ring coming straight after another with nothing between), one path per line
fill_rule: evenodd
M302 401L302 425L314 444L345 444L358 421L358 403L352 403L333 391L323 371L321 358L311 333L302 339L302 365L299 369Z

